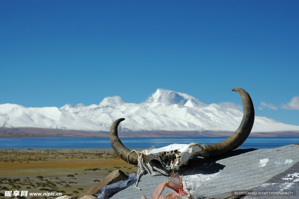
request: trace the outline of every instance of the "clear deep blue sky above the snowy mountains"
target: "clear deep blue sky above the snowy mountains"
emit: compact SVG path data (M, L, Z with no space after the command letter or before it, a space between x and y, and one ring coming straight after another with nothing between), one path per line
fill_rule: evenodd
M157 88L241 104L241 87L256 115L299 125L281 109L299 96L298 24L298 0L1 0L0 104L140 103Z

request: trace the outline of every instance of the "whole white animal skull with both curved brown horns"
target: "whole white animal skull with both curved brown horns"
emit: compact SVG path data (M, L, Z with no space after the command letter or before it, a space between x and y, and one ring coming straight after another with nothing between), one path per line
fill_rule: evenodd
M243 103L243 119L239 128L228 139L213 145L173 144L159 149L144 150L141 153L131 153L118 138L118 125L124 118L117 119L110 128L110 142L114 151L124 161L138 165L138 157L143 163L158 160L167 170L179 170L181 165L186 165L193 157L216 157L226 154L243 144L249 136L254 123L254 107L249 94L241 88L234 88L240 94Z

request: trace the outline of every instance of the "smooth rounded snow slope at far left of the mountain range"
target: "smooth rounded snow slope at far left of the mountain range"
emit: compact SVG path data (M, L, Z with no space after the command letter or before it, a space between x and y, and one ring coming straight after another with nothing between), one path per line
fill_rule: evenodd
M0 126L106 131L84 117L57 107L28 108L17 104L0 104Z

